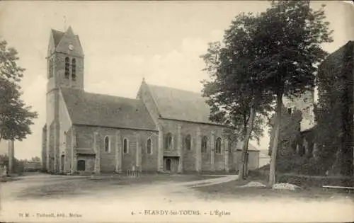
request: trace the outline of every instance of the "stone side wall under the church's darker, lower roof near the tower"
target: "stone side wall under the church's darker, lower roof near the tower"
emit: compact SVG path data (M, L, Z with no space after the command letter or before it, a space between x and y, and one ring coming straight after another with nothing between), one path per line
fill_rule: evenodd
M157 157L157 133L154 131L113 129L105 127L89 127L79 125L75 127L77 134L77 146L79 148L93 149L93 133L97 132L96 149L101 156L101 172L113 172L116 170L116 153L118 145L122 154L122 171L132 170L133 166L139 166L142 171L156 171ZM119 136L118 136L119 135ZM105 151L105 137L109 137L110 147ZM120 142L117 138L120 138ZM152 154L147 154L147 139L152 139ZM124 139L127 139L127 153L122 152ZM137 143L139 142L139 143ZM139 148L137 148L137 145ZM137 156L137 149L142 153ZM140 158L141 157L141 158Z

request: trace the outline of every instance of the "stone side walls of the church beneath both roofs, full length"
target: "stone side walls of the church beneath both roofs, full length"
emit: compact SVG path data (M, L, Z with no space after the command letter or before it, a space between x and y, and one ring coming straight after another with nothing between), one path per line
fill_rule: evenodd
M174 128L181 126L181 135L184 137L188 134L191 135L191 147L190 150L185 148L183 143L182 147L182 161L184 172L195 172L197 158L197 146L201 146L201 142L197 143L197 134L195 128L200 129L200 136L209 134L207 141L207 151L200 152L200 171L235 171L238 169L239 152L236 151L234 144L230 143L230 149L227 147L227 140L225 139L222 127L212 125L199 125L189 122L177 122L173 120L164 120L164 132L171 132L173 136L173 148L177 147L178 131ZM194 130L194 132L193 132ZM117 151L122 151L123 140L127 139L129 143L127 154L122 154L121 171L124 173L127 170L132 170L133 166L139 167L144 172L156 172L157 171L157 159L158 159L158 132L154 131L135 131L135 130L123 130L113 129L105 127L89 127L84 125L75 125L67 131L66 141L66 153L64 173L69 173L72 165L74 165L74 171L76 171L77 161L84 159L86 161L86 171L94 171L95 169L95 156L78 155L77 159L72 161L72 148L84 148L94 149L94 132L96 135L96 149L100 152L100 172L101 173L113 173L117 170ZM119 134L118 134L119 132ZM117 141L119 136L120 142ZM73 139L74 137L74 139ZM104 140L105 137L110 139L110 147L108 151L105 151ZM217 137L222 137L224 140L222 143L222 153L215 154L215 142ZM215 139L212 139L215 138ZM152 154L147 153L147 139L152 139ZM212 140L211 140L212 139ZM76 142L77 140L77 142ZM201 137L200 137L201 140ZM116 148L120 145L120 150ZM137 146L141 154L137 156ZM258 168L258 151L249 151L249 168ZM74 154L76 156L76 154ZM212 160L214 159L214 160ZM214 165L212 165L214 163Z

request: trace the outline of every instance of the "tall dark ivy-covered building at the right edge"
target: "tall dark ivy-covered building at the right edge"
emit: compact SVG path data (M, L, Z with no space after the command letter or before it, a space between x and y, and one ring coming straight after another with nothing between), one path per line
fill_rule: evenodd
M326 147L335 150L331 174L351 175L348 164L353 163L354 137L354 41L348 41L331 53L319 65L319 109L326 111L326 116L333 117L336 122L326 124L325 117L321 127L333 131L333 137L326 142ZM320 123L319 123L320 124ZM318 128L318 131L321 129ZM333 146L334 145L334 146ZM312 149L309 148L309 151ZM316 154L316 147L314 154Z

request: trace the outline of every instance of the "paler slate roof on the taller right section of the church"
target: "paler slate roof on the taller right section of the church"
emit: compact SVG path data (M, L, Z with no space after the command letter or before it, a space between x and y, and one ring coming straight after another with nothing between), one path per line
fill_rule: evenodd
M147 84L161 118L216 124L209 120L210 106L201 93Z

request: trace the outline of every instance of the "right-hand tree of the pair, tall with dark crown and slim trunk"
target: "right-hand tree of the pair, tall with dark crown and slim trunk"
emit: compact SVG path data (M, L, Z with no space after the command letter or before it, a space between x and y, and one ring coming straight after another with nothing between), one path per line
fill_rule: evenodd
M263 76L262 82L276 97L277 106L270 185L275 183L282 97L299 97L313 90L316 64L327 55L321 44L333 41L325 18L324 5L314 11L309 1L272 1L270 8L259 16L253 39L259 57L251 69Z

